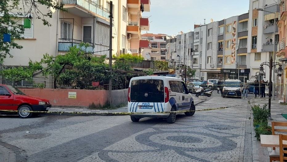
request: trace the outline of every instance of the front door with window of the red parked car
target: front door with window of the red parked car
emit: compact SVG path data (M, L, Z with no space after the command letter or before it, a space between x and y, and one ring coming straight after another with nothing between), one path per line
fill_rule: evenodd
M0 110L14 110L13 95L6 90L5 87L0 87Z

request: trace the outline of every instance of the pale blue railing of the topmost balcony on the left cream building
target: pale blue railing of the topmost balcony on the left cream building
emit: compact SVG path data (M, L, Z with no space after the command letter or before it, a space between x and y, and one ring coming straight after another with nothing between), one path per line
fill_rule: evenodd
M64 5L75 4L83 7L86 10L89 10L99 16L105 17L109 19L109 10L103 8L103 6L99 6L97 3L91 0L62 0Z

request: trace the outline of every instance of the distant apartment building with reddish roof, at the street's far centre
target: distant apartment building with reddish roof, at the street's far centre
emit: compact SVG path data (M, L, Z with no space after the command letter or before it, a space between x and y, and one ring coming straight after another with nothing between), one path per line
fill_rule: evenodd
M168 35L166 34L142 34L142 40L147 40L149 42L151 60L166 60L167 36ZM145 49L146 46L141 46L141 48Z

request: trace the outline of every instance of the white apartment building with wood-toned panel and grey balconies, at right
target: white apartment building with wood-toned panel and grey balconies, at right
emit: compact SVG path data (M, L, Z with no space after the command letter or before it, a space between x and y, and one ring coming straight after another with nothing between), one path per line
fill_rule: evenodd
M275 3L276 1L276 3ZM249 24L248 24L248 41L247 53L250 62L250 76L255 76L259 71L260 64L269 62L270 56L273 57L273 45L279 42L278 28L274 23L274 16L278 15L279 7L278 0L250 0L249 3ZM258 11L257 8L269 11ZM277 20L277 18L276 18ZM276 35L274 38L274 25L276 27ZM275 49L277 51L277 49ZM263 66L266 74L269 74L269 67ZM271 80L269 75L264 80ZM273 83L275 83L273 81Z

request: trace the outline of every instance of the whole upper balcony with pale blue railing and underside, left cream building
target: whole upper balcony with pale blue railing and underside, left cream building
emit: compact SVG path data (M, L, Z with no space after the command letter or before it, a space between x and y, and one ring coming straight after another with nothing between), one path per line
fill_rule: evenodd
M79 17L101 17L109 21L110 11L91 0L62 0L68 12Z

